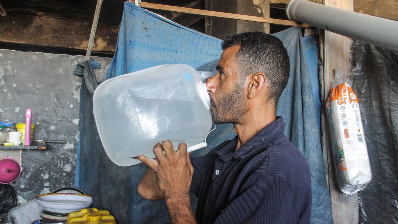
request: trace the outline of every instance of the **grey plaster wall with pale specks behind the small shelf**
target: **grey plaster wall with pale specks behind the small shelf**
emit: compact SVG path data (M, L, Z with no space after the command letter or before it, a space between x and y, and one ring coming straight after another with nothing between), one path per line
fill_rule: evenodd
M101 63L97 75L105 77L111 58L93 59ZM34 140L66 141L47 143L46 149L22 149L23 172L11 184L19 203L74 185L82 84L74 69L82 61L81 55L0 49L0 120L25 123L31 108Z

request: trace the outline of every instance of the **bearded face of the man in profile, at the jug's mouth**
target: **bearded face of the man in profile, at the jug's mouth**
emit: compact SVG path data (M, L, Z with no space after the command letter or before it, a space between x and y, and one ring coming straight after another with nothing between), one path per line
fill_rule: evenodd
M216 75L206 81L216 124L239 123L248 110L244 97L245 83L241 82L235 62L239 49L239 45L225 49L217 64Z

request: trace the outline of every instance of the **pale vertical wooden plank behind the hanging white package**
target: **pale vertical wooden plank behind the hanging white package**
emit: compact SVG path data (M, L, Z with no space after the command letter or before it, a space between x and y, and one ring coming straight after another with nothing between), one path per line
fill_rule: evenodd
M341 8L344 10L353 10L353 0L324 0L325 5ZM323 77L323 94L322 101L326 102L326 98L330 93L334 81L334 69L340 67L344 74L349 74L349 53L350 42L348 37L338 35L329 31L324 31L324 77ZM329 191L332 199L332 215L335 224L351 224L358 223L359 210L357 196L346 195L338 188L336 170L334 167L330 132L326 123L325 108L322 108L323 127L323 147L325 163L328 165L329 175Z

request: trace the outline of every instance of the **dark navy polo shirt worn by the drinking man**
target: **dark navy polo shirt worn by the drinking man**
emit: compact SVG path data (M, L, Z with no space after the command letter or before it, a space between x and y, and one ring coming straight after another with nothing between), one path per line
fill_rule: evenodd
M278 117L235 151L237 137L191 159L199 224L307 224L310 170Z

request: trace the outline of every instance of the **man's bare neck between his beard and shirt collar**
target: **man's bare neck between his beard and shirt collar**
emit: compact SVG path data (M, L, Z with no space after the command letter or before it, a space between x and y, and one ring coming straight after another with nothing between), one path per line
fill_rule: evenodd
M248 116L243 119L242 123L234 124L234 132L238 135L236 150L242 147L242 145L274 120L276 120L275 109L272 111L263 110L263 112L256 114L248 114Z

